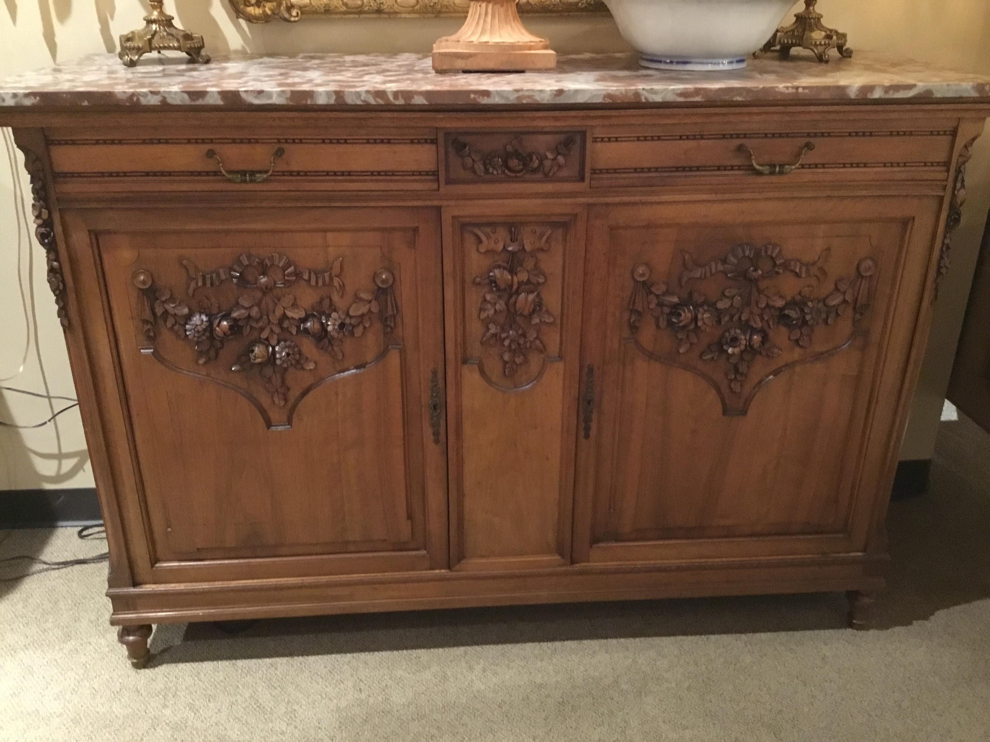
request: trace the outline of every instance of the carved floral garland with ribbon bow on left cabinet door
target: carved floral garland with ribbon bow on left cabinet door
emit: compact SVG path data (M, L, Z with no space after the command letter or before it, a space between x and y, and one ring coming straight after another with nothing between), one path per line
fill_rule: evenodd
M259 380L274 408L290 402L292 408L305 394L293 381L301 376L298 372L333 376L342 364L325 364L322 355L345 361L347 346L375 324L386 342L395 331L395 275L386 267L367 277L369 288L357 289L347 299L343 257L316 269L297 265L279 252L264 257L245 252L212 270L201 270L188 258L181 263L188 278L181 289L156 283L144 268L133 274L143 296L146 351L176 370L190 363L192 368L212 368L226 358L226 373L202 375L237 389L266 420L266 405L237 377L247 374ZM302 298L304 291L309 298ZM163 332L186 346L186 361L160 352ZM233 350L225 352L228 348ZM306 391L313 386L313 374L309 377L302 384Z

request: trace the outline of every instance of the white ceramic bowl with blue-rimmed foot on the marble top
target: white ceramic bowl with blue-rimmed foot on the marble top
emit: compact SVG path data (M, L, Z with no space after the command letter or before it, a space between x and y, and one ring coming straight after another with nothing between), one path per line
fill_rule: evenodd
M644 67L739 69L794 0L605 0Z

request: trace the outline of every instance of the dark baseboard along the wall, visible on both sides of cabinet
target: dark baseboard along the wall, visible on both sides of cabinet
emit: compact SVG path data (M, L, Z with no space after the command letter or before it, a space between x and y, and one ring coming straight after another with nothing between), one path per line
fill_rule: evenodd
M902 461L891 500L917 498L928 492L931 459ZM0 528L50 528L53 525L87 525L103 519L96 490L0 491Z

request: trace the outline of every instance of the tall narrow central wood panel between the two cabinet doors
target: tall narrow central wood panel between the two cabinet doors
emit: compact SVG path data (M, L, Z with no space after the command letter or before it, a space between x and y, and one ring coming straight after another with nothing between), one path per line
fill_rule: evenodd
M568 560L581 224L570 210L446 220L458 569Z

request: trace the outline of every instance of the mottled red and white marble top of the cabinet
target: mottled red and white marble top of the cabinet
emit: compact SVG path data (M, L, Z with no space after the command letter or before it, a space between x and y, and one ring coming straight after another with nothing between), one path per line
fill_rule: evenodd
M459 106L990 99L990 78L856 51L818 64L803 54L731 72L644 69L635 54L560 56L516 74L436 74L426 54L230 56L210 64L112 54L79 57L0 82L0 107ZM2 111L2 108L0 108Z

